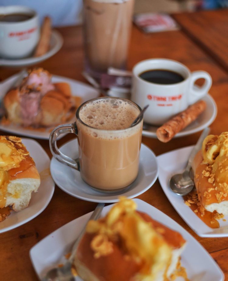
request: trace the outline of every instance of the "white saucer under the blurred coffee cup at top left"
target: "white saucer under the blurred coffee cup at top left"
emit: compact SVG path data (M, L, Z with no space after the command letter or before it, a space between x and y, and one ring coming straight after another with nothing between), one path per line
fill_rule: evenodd
M8 67L23 67L29 66L36 63L40 63L41 61L47 60L49 57L52 57L56 54L63 45L62 35L56 31L52 30L51 39L50 39L50 50L40 57L27 57L23 59L3 59L0 58L0 66L8 66Z

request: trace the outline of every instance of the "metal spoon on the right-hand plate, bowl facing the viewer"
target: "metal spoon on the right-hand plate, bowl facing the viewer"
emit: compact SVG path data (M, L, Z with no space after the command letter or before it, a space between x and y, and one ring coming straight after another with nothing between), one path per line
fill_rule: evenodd
M188 165L185 171L182 174L173 175L169 179L169 187L174 193L177 193L178 195L186 195L192 191L194 187L194 182L189 176L189 172L192 166L192 160L194 159L195 154L201 149L202 142L205 139L205 137L208 135L209 131L210 131L209 128L205 128L203 130L202 134L199 137L199 140L197 141L196 145L192 149L192 152L188 159Z

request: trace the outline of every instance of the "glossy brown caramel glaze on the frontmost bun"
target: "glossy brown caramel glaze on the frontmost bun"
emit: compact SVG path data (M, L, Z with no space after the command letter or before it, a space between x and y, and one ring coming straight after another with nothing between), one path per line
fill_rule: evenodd
M158 231L160 230L161 235L172 248L181 248L181 246L185 243L185 240L178 232L173 231L153 220L146 213L137 213L143 218L143 220L152 223ZM94 252L90 246L94 236L94 234L86 233L78 248L77 258L80 260L81 266L88 268L91 272L91 276L93 276L92 274L96 276L93 276L93 278L89 280L135 280L132 278L140 271L143 266L143 262L136 262L131 258L126 258L127 252L121 247L121 243L118 241L113 244L113 252L111 254L95 259Z

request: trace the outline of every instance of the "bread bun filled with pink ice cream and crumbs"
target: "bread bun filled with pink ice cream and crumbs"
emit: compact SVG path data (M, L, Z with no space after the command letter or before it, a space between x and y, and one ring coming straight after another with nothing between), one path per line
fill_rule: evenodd
M53 127L70 120L81 104L71 95L68 83L51 83L42 68L29 71L21 85L6 93L3 103L6 120L23 127Z

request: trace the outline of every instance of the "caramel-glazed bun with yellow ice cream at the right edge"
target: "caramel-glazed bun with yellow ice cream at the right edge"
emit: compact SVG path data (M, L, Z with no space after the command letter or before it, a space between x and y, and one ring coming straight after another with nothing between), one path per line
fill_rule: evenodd
M228 214L228 132L209 135L192 161L195 187L203 208Z

